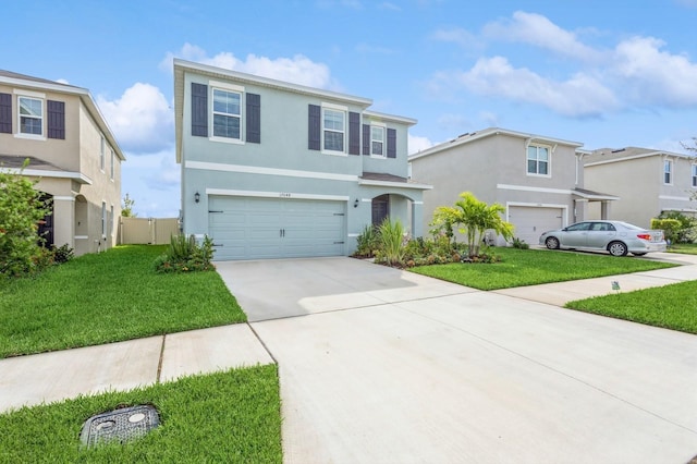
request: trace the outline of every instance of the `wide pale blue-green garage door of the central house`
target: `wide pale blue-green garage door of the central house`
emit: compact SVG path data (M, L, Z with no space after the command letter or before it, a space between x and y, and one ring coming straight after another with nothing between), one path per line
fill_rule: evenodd
M341 256L345 203L211 196L213 259Z

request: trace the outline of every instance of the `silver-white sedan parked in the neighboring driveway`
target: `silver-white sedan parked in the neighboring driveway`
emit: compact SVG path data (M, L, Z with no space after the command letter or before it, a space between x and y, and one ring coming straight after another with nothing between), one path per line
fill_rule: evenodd
M578 248L606 251L612 256L632 253L644 256L649 252L665 252L663 231L647 230L623 221L583 221L545 232L540 245L549 249Z

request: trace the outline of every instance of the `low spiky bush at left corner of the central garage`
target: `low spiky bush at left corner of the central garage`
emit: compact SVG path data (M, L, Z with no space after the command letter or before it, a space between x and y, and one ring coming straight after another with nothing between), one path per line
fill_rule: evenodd
M170 246L155 260L158 272L194 272L213 270L213 241L205 236L199 245L194 235L176 235L170 240Z

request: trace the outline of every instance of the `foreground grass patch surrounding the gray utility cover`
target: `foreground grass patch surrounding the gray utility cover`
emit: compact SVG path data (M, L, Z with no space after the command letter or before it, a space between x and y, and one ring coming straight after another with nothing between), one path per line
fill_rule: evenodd
M138 404L155 405L159 427L125 444L81 447L89 417ZM0 462L281 463L280 407L276 365L23 407L0 415Z

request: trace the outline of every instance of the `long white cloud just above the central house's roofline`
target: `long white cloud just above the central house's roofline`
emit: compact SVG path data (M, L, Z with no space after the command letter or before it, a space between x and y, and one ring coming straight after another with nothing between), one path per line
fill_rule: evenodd
M247 54L243 61L229 51L209 57L203 48L192 44L184 44L181 50L167 53L166 58L160 62L160 69L171 72L172 60L175 57L309 87L341 90L340 85L332 80L329 68L326 64L316 63L303 54L277 59Z

